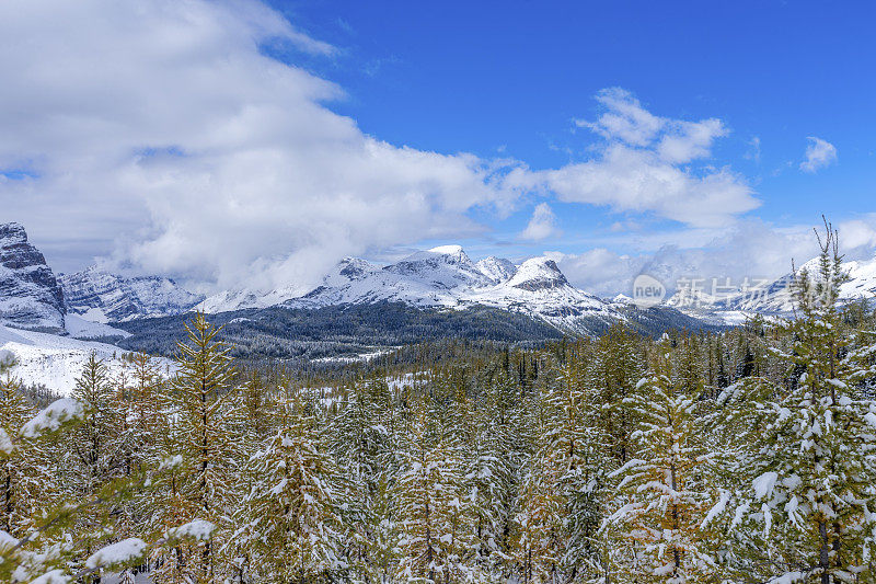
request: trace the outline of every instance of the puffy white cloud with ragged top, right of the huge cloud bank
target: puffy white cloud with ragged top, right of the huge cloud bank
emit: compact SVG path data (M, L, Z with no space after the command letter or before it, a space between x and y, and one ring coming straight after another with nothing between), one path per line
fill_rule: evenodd
M597 121L576 122L604 138L593 158L556 170L515 169L509 183L552 192L564 202L652 213L695 227L727 226L760 204L729 169L694 167L727 135L721 121L658 117L620 89L597 99L604 107Z

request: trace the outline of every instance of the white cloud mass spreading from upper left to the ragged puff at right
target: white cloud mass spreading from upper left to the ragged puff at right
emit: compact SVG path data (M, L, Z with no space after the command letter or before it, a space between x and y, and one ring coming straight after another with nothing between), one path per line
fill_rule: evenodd
M580 123L596 156L560 169L366 135L331 110L342 88L263 49L341 51L256 0L7 0L0 38L0 219L62 270L114 250L205 287L303 291L344 255L472 237L473 209L530 191L690 226L758 204L700 164L721 121L659 117L622 90ZM549 237L550 207L530 224Z

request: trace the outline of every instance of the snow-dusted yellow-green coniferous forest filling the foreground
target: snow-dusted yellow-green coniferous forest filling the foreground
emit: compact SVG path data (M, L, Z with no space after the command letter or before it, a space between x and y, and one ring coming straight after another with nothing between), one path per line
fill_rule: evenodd
M188 323L170 376L0 383L3 582L876 582L876 322L436 341L303 378Z

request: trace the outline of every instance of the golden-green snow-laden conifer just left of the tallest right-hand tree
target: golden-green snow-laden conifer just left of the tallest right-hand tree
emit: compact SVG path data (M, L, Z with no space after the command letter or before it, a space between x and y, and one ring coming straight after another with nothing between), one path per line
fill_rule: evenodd
M695 412L702 383L691 388L687 373L672 370L666 345L658 344L632 398L638 458L613 472L619 508L604 523L618 546L612 581L699 583L716 573L718 536L710 522L726 499L710 480L715 455Z

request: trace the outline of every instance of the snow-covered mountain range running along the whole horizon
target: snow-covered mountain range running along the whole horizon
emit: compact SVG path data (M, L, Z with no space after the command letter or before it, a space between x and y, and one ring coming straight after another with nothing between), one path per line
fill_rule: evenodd
M876 259L849 262L846 267L852 280L843 286L845 297L876 296ZM306 313L377 305L461 312L483 307L543 322L563 334L595 334L618 321L696 328L698 321L735 324L754 312L787 313L789 282L786 275L758 294L738 290L722 297L682 290L648 312L623 295L603 299L576 288L549 257L519 265L495 256L474 262L461 247L442 245L388 265L346 257L303 295L290 285L267 291L226 290L205 298L166 277L128 277L97 266L56 277L21 225L0 224L0 323L89 337L125 336L106 323L124 329L123 323L194 309L212 314L266 308Z

